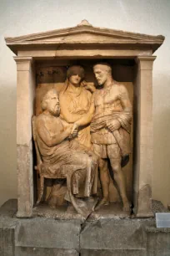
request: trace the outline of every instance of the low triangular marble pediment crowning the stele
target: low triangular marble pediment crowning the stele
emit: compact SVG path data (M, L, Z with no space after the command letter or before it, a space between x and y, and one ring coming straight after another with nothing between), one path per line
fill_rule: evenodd
M162 35L153 36L142 33L92 27L82 21L73 28L57 29L45 33L33 33L25 36L6 38L7 46L41 44L163 44ZM16 48L15 47L15 48ZM10 47L13 49L13 47Z

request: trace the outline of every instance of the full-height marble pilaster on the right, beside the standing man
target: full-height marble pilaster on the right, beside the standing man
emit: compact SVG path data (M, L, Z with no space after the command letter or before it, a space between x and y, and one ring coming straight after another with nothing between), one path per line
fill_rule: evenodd
M134 212L138 218L152 217L153 182L153 61L154 56L137 60L135 83Z

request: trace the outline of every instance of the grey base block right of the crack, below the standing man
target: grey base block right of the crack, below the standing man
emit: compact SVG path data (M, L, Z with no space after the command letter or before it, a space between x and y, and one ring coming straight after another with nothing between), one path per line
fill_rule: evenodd
M136 219L100 219L97 222L86 223L80 234L81 248L143 250L147 243L144 230L146 224Z

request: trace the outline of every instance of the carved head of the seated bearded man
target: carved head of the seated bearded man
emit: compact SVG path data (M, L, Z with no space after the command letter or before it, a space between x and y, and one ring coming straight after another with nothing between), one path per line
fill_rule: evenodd
M46 95L43 96L42 110L49 112L51 115L60 114L60 105L56 90L48 90Z

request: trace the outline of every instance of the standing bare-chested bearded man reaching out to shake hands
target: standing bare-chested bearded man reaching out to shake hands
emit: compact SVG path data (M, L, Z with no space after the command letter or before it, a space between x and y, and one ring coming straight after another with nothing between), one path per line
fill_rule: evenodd
M97 205L108 204L109 176L107 160L112 166L114 180L122 198L123 210L130 211L122 166L128 162L130 154L130 127L132 105L124 85L112 79L109 64L96 64L94 74L99 89L92 95L91 107L87 115L77 120L74 127L91 122L93 149L99 156L100 179L102 183L102 201Z

